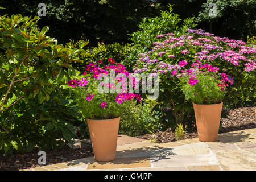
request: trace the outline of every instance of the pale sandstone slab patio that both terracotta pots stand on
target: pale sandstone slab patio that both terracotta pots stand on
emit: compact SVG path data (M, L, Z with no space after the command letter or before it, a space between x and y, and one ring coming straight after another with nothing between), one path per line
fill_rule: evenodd
M124 142L117 146L117 158L112 162L96 162L90 157L24 170L256 171L256 129L222 133L216 142L200 142L198 138Z

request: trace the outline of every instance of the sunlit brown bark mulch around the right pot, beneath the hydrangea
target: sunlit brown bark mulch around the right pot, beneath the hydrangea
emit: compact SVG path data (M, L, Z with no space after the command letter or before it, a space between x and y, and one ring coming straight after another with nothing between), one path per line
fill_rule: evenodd
M241 107L238 109L227 110L229 114L228 118L221 118L222 128L219 133L256 128L255 109L256 107ZM196 129L189 132L185 131L184 139L195 137L198 137ZM159 143L177 141L175 132L171 129L160 131L155 134L137 136L137 138L145 140L151 139Z

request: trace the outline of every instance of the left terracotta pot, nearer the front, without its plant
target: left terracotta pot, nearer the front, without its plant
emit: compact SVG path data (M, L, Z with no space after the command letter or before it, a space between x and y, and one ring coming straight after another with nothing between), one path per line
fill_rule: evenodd
M115 119L86 119L92 140L94 159L111 161L115 159L120 117Z

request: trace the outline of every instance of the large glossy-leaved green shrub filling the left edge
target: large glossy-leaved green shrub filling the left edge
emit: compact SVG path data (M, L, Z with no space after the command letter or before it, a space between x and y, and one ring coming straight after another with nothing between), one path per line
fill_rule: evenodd
M67 93L58 86L65 76L77 74L69 64L88 55L82 49L88 42L57 44L46 35L48 27L37 27L38 19L0 16L1 153L30 151L35 145L54 149L57 138L72 143L75 137L75 111L71 114Z

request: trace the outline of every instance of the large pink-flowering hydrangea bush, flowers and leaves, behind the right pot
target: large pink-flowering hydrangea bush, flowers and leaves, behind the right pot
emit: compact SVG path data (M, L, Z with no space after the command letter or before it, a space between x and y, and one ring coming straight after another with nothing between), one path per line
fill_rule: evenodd
M168 109L168 118L176 122L192 114L191 103L181 91L179 76L191 72L191 65L200 61L210 72L218 71L230 78L233 85L225 88L224 104L230 107L255 99L256 49L242 40L214 36L204 30L188 29L184 35L159 35L154 48L139 54L135 73L158 73L160 108ZM188 80L189 81L189 80ZM196 84L196 79L190 79ZM226 83L226 81L225 81ZM220 82L220 85L225 85Z

